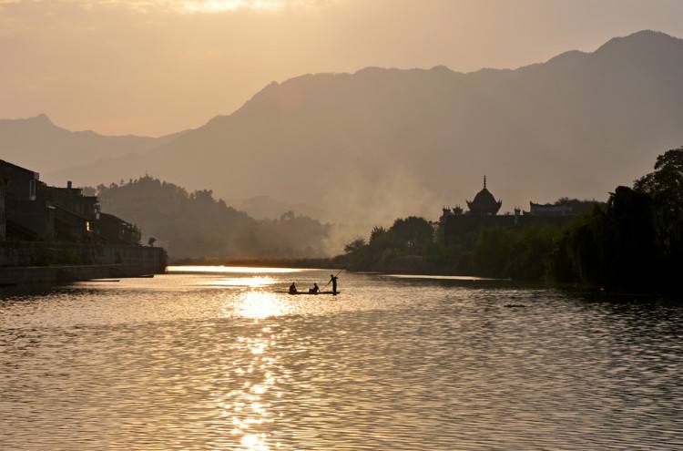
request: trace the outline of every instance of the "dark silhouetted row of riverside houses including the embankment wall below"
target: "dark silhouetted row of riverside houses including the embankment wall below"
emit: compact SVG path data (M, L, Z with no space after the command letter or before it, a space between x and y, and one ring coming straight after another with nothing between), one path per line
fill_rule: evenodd
M134 224L100 212L96 196L48 186L0 159L0 284L31 285L162 273L167 254Z

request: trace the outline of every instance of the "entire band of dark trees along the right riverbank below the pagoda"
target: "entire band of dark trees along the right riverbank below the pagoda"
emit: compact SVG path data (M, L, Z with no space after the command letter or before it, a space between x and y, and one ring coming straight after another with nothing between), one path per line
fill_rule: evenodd
M533 282L581 283L674 292L683 268L683 148L668 150L633 188L606 203L561 199L581 214L565 221L464 220L444 236L438 222L410 217L375 227L338 258L364 271L474 274ZM501 225L503 224L503 225Z

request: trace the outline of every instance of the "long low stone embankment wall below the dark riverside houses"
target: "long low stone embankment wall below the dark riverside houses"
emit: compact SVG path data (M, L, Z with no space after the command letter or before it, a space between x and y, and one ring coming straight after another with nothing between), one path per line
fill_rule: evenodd
M161 248L33 241L0 243L0 284L135 277L165 272L166 264L166 251Z

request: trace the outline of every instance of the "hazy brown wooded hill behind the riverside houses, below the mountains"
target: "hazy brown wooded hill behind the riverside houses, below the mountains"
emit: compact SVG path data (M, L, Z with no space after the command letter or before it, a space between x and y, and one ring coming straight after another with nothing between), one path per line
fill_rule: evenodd
M328 225L291 211L278 220L254 220L210 190L189 193L148 176L100 185L97 195L102 210L135 222L176 258L320 256L329 233Z

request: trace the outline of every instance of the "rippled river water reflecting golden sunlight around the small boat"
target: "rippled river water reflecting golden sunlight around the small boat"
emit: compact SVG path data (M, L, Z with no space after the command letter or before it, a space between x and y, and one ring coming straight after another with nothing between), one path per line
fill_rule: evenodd
M683 448L680 304L182 270L0 292L0 449Z

